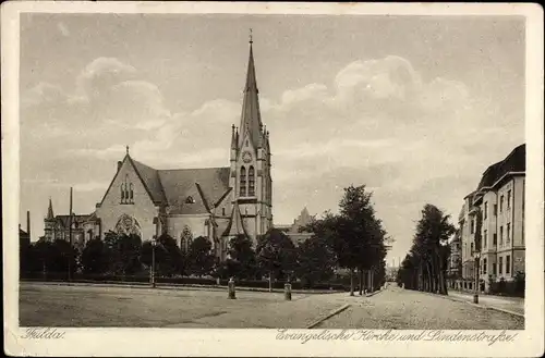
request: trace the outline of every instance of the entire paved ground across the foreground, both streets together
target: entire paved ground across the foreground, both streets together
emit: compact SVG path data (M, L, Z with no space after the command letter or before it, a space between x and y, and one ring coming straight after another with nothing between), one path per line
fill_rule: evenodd
M448 298L389 287L372 297L22 283L22 326L523 329L523 319Z

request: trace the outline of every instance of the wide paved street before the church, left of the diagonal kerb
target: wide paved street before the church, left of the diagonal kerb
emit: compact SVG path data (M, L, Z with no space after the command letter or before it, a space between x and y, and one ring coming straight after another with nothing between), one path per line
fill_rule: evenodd
M344 295L21 283L22 326L301 328ZM330 297L330 298L326 298Z

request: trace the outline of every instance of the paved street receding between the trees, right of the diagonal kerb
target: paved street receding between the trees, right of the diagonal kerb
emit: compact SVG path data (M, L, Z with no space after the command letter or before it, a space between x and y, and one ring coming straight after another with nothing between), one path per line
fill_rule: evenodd
M361 299L317 328L375 330L523 330L524 319L399 287Z

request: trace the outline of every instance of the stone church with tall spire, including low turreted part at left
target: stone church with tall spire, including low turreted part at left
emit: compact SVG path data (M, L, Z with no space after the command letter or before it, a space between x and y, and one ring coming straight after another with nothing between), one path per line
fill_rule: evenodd
M252 44L240 125L230 128L229 166L155 169L131 157L128 147L112 165L113 178L95 212L72 217L74 246L83 249L109 231L136 234L142 240L168 234L182 249L205 236L225 260L230 238L245 234L255 243L272 226L269 133L259 111ZM49 201L46 239L69 239L69 215L55 215Z

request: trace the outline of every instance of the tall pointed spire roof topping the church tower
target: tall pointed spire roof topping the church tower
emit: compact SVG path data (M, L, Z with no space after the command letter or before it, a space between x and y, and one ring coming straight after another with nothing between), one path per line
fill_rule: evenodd
M250 38L250 57L247 60L246 84L244 86L244 99L242 102L242 114L239 127L239 148L242 146L242 140L246 133L250 134L250 139L254 148L258 147L261 141L262 114L259 111L259 99L257 81L255 78L254 52L252 49L252 37Z

